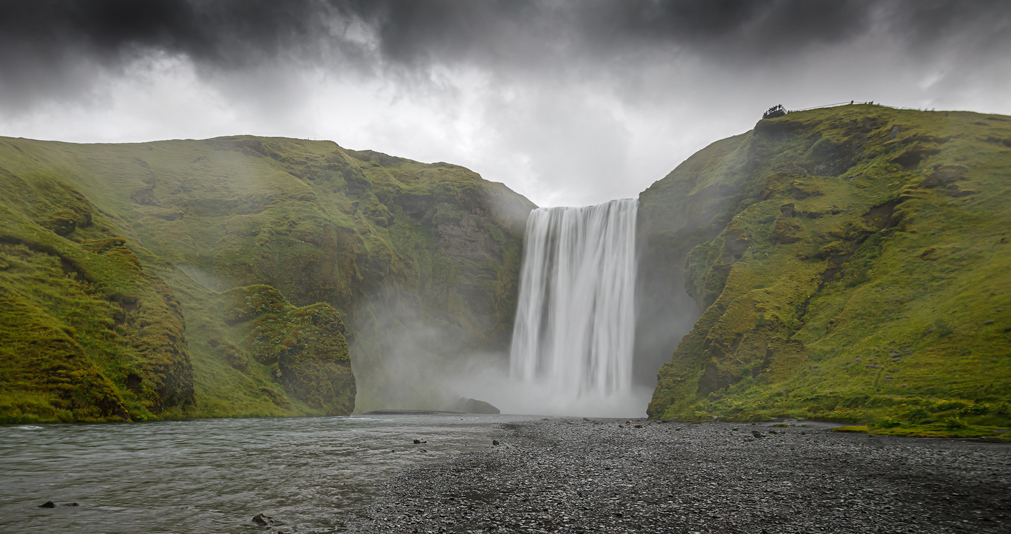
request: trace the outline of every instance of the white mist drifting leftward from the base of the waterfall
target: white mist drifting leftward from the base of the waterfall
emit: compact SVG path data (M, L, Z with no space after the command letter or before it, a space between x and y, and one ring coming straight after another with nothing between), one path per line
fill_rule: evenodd
M514 415L643 417L646 413L653 383L635 384L620 395L588 393L572 398L550 384L512 377L508 347L468 350L473 340L439 322L393 287L358 305L347 319L358 388L356 411L457 411L462 397ZM656 369L640 372L652 372L655 382Z

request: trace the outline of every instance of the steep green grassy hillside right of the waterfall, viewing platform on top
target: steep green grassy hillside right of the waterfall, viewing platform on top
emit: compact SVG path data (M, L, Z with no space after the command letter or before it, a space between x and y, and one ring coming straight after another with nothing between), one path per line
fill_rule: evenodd
M702 314L651 417L1011 423L1011 118L790 113L641 202L644 238L682 252Z

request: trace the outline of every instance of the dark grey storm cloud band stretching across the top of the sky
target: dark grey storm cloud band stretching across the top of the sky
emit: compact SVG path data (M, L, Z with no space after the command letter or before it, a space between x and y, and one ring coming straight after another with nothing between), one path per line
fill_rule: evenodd
M990 54L1011 38L1011 2L1000 0L6 0L0 9L8 107L86 92L99 74L158 54L215 71L294 62L539 74L655 52L774 63L874 28L914 54L962 34L972 41L962 51Z

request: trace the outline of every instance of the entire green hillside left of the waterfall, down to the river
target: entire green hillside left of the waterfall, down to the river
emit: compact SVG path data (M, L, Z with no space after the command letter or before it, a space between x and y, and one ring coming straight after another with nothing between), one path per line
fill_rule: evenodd
M254 136L0 138L0 183L6 422L436 402L384 361L417 324L422 361L508 341L533 208L457 166Z

